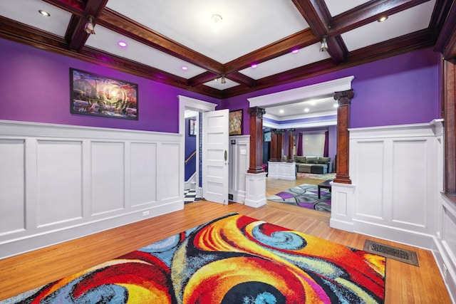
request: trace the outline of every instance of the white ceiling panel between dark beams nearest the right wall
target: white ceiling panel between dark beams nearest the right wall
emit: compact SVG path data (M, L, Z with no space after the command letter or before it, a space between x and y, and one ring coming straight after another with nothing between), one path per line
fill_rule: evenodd
M391 15L386 21L366 24L341 34L348 51L370 46L396 37L420 31L429 26L435 0L427 1L411 9ZM403 22L408 20L408 22Z

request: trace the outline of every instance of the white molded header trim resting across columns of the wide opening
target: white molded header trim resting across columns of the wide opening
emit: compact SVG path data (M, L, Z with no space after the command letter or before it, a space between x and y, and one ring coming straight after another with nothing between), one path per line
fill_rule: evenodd
M348 76L345 78L329 80L324 83L317 83L315 85L307 85L302 88L295 88L258 97L247 98L247 100L249 100L250 107L252 108L293 103L296 100L315 98L317 96L330 96L333 95L334 92L350 90L353 78L355 77Z

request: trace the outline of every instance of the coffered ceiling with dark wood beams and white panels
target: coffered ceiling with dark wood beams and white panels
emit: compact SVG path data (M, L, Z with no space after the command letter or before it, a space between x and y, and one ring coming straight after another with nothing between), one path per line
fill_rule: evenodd
M224 99L429 46L454 58L454 1L0 1L0 37Z

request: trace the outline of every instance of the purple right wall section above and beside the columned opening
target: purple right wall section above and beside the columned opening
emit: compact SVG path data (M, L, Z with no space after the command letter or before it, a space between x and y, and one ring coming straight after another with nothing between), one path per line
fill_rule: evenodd
M432 48L366 63L353 68L279 85L222 101L223 108L244 108L244 134L249 134L247 98L355 76L350 127L430 122L440 118L440 55ZM247 118L247 119L246 119Z

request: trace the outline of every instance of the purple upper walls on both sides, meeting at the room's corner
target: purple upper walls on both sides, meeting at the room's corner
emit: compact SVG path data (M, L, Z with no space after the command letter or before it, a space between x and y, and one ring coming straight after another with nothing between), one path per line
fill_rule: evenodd
M440 118L439 58L426 48L220 101L0 38L0 119L177 133L177 95L185 95L244 109L243 133L249 134L247 98L354 75L351 127L430 122ZM71 114L69 68L138 83L139 120Z

